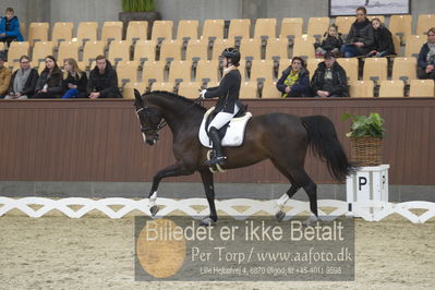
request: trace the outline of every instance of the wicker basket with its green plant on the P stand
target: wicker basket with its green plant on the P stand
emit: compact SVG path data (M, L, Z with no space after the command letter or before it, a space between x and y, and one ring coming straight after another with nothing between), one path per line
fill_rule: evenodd
M382 140L385 134L384 119L377 112L368 116L343 113L341 120L352 120L350 132L350 155L358 166L378 166L382 164Z

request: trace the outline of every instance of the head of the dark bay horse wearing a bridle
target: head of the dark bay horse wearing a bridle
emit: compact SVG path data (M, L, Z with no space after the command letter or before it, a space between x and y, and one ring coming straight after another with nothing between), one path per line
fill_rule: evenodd
M154 145L158 140L158 131L161 129L161 114L156 110L147 106L144 98L137 89L134 89L134 96L136 98L134 107L136 109L137 119L141 122L141 132L144 137L144 142L148 145Z

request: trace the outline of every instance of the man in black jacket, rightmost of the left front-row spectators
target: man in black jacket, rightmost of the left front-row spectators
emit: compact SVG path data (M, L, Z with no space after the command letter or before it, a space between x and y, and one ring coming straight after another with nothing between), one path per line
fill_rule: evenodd
M104 56L98 56L97 65L90 71L87 82L87 94L92 99L97 98L121 98L118 88L118 74Z

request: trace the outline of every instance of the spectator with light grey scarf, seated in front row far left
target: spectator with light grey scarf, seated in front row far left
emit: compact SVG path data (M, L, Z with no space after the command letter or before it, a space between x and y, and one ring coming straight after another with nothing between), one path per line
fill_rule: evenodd
M32 69L31 60L27 56L20 58L20 69L12 74L5 99L27 99L35 94L36 82L38 81L38 71Z

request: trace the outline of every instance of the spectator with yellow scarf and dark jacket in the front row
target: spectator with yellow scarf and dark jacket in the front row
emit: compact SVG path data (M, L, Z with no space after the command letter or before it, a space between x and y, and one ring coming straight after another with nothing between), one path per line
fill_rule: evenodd
M282 72L277 82L277 88L282 93L282 98L311 97L310 72L302 58L293 57L291 65Z

